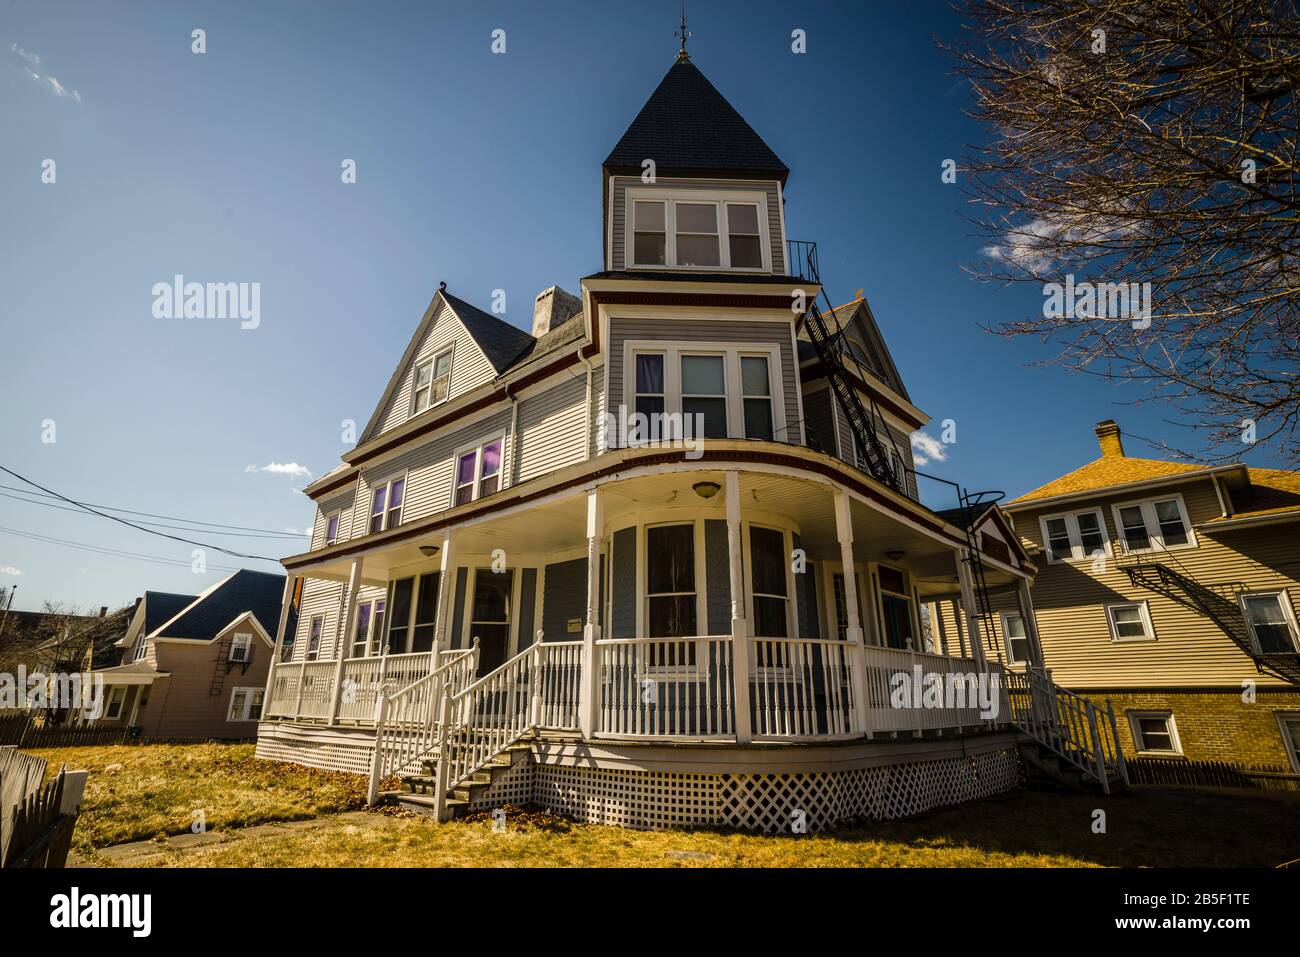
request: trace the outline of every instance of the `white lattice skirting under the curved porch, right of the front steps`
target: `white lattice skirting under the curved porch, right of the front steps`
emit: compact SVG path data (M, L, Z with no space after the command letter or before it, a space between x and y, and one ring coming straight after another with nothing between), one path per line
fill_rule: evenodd
M473 810L532 804L577 820L637 830L736 827L823 831L854 818L893 819L1010 791L1014 748L806 774L685 774L523 762Z

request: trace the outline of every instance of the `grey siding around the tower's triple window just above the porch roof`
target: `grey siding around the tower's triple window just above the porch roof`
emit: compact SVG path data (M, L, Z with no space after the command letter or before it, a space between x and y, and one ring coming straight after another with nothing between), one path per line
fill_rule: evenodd
M790 321L754 320L734 322L694 319L615 319L610 321L610 406L623 404L623 346L628 339L680 342L757 342L775 345L780 351L780 380L785 398L785 436L779 441L802 445L800 429L800 381L790 342Z

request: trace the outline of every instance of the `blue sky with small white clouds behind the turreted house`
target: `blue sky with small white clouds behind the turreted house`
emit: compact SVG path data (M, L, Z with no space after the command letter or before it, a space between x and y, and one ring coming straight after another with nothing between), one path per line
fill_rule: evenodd
M677 13L646 0L0 3L0 464L81 501L309 527L307 476L248 467L334 467L341 423L364 425L439 280L484 307L506 290L526 326L538 290L577 291L601 268L601 160L670 68ZM792 169L790 237L818 242L836 302L866 290L914 402L956 420L931 468L1014 495L1095 458L1100 419L1173 434L1167 407L1028 368L1049 348L979 328L1036 312L1041 295L961 269L982 243L940 165L983 133L933 46L958 35L946 3L694 0L689 20L696 64ZM490 51L498 27L504 55ZM344 159L356 185L341 183ZM259 328L155 319L152 286L177 273L259 282ZM1130 439L1128 452L1149 450ZM18 609L194 593L217 566L277 570L208 553L195 573L188 545L13 497L0 528L0 585L20 585Z

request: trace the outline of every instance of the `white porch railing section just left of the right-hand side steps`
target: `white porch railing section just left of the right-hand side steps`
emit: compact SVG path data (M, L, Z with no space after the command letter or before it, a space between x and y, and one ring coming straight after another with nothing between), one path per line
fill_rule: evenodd
M961 731L1010 720L1005 709L1001 674L994 670L982 675L972 658L949 658L930 651L875 645L868 645L864 651L867 731L872 737L880 733L948 728ZM936 679L928 679L928 675L937 676L937 689L941 693L937 700ZM931 690L927 692L927 687ZM982 694L985 696L988 707L982 706ZM985 711L996 714L985 718Z

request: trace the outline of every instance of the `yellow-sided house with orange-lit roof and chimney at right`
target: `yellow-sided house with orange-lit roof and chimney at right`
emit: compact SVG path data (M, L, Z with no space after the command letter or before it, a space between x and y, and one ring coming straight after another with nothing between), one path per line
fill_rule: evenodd
M1130 757L1300 774L1300 475L1132 458L1110 420L1096 436L1097 459L1002 506L1039 566L1053 679L1113 703ZM1019 664L1023 620L994 607Z

